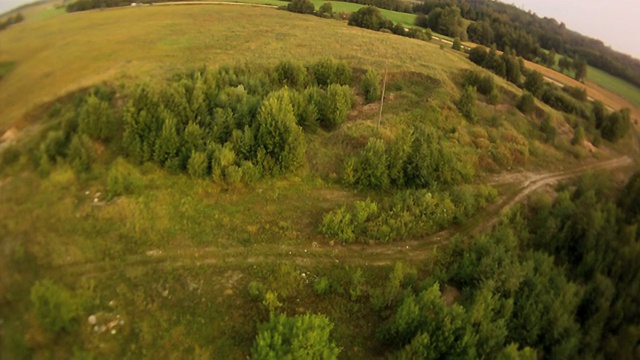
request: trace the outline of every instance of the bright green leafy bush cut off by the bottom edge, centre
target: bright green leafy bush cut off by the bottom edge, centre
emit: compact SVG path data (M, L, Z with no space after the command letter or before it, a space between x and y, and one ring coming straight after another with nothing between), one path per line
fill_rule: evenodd
M333 324L324 315L288 317L271 313L269 322L258 326L251 358L337 359L340 349L330 339Z

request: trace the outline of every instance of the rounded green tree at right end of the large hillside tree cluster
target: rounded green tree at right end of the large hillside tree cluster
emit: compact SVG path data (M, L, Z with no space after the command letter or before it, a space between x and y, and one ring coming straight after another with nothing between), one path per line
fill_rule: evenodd
M326 130L337 129L351 110L353 93L346 85L329 85L319 104L320 125Z

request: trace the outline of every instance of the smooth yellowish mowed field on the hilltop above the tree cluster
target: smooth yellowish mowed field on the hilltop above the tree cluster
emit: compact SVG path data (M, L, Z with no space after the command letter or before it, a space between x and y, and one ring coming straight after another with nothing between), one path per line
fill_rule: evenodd
M147 6L67 14L0 33L0 62L15 62L0 83L0 130L25 125L25 114L40 104L106 80L153 82L202 65L323 57L420 71L444 81L448 77L439 74L472 66L463 54L435 44L263 7Z

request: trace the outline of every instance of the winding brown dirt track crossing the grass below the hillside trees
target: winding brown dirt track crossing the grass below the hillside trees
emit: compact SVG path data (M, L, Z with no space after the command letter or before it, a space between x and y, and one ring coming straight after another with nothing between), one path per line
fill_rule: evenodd
M622 168L633 164L628 156L581 165L571 169L542 174L504 174L487 179L487 183L509 187L502 197L476 214L467 225L452 227L411 241L390 244L330 245L255 245L250 247L193 247L177 250L149 249L118 261L64 264L50 270L66 276L96 276L112 271L140 271L149 266L172 268L194 265L243 266L258 263L294 262L301 266L321 264L388 265L399 260L421 260L432 256L439 245L454 235L470 236L489 230L510 208L522 202L530 193L591 170Z

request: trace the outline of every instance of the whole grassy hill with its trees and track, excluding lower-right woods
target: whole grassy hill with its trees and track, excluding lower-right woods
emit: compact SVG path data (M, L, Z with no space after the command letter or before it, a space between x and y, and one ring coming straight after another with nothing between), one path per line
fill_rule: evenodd
M25 22L0 43L0 130L31 129L0 150L3 359L246 359L274 310L325 314L341 357L382 357L412 291L441 280L442 309L460 295L426 278L454 235L546 184L634 165L631 136L594 148L584 119L538 101L525 115L521 90L462 53L339 21L148 6ZM465 89L471 69L486 95ZM378 127L365 96L385 70ZM293 147L297 165L274 170ZM503 238L495 263L520 269Z

